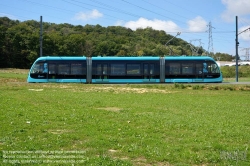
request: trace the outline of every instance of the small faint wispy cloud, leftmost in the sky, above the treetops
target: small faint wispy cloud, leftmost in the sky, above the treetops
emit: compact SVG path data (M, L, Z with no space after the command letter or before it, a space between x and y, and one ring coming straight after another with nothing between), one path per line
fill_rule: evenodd
M102 16L103 16L102 13L100 13L98 10L94 9L94 10L88 11L88 12L79 12L75 15L74 19L81 20L81 21L87 21L87 20L97 19L97 18L100 18Z

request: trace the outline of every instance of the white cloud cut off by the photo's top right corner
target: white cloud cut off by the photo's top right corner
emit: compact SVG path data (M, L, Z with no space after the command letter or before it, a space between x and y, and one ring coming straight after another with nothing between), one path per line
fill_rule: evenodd
M226 6L226 10L221 17L224 21L233 22L235 16L245 16L250 14L250 0L221 0Z

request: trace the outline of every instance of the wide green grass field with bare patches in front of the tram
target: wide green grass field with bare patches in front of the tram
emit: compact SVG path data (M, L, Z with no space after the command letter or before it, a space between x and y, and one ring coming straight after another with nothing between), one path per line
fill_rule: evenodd
M249 85L26 77L0 70L0 165L250 165Z

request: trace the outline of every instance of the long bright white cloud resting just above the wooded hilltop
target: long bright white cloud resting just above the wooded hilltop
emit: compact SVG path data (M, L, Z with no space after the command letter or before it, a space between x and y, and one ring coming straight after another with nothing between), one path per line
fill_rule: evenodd
M121 24L121 22L119 22ZM124 23L125 27L132 30L137 28L147 28L152 27L155 30L163 30L165 32L178 32L180 28L172 21L163 21L163 20L148 20L146 18L139 18L137 21L129 21Z

